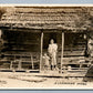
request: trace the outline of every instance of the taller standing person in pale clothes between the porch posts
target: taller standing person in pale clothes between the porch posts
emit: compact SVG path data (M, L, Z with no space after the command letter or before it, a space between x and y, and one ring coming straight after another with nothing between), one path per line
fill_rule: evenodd
M51 70L56 69L56 52L58 52L58 44L54 43L54 40L51 39L49 48L48 48L49 55L51 58Z

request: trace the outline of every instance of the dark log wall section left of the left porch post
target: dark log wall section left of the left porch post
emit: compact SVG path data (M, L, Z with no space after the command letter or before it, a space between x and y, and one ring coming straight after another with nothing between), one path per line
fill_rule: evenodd
M16 60L22 61L24 69L40 68L40 32L3 31L4 49L2 50L6 68L10 68L11 61L18 68ZM33 63L34 62L34 63Z

